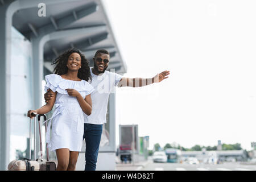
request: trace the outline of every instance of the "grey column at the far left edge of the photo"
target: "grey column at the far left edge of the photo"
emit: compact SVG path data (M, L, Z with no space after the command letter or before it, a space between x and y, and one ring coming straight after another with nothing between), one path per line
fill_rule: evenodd
M0 170L7 170L10 162L11 2L0 7Z

